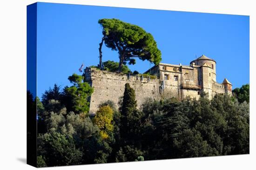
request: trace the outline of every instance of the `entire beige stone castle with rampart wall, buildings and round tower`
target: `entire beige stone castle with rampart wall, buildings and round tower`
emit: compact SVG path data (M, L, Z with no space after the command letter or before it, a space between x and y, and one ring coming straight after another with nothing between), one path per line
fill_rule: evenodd
M202 55L190 62L190 65L159 63L143 75L124 75L115 72L85 69L85 81L93 88L90 97L90 112L95 113L104 101L114 101L117 105L124 93L125 83L135 89L138 107L147 99L155 100L186 96L198 99L202 92L209 94L209 99L217 93L232 94L232 84L225 78L216 82L216 61Z

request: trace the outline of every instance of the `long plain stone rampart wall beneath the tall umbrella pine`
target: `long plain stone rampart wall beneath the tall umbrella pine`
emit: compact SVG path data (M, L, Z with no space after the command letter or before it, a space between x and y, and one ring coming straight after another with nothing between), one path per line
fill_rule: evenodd
M148 78L144 77L141 81L141 77L138 77L137 80L136 76L130 76L128 79L127 75L91 69L90 72L86 72L85 80L94 88L94 93L90 97L90 112L93 113L98 110L98 106L101 103L108 100L113 101L117 107L119 100L123 96L125 83L127 82L135 89L138 107L147 98L161 99L159 79L151 79L148 82ZM167 95L169 96L168 93Z

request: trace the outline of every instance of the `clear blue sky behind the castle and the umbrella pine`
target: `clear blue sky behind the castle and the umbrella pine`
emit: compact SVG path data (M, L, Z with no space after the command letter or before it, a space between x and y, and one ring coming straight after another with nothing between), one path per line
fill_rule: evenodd
M249 83L249 16L189 13L102 6L38 3L37 95L54 83L71 85L67 77L99 63L102 28L99 19L121 19L150 32L162 52L162 63L189 65L204 54L216 60L217 82L226 77L233 88ZM118 53L103 46L103 61ZM152 64L151 64L152 66ZM129 66L149 69L148 61Z

